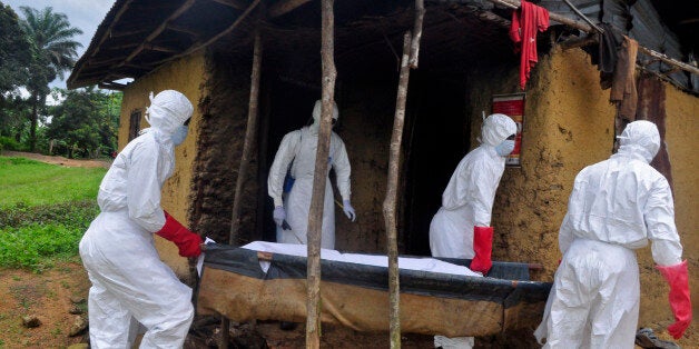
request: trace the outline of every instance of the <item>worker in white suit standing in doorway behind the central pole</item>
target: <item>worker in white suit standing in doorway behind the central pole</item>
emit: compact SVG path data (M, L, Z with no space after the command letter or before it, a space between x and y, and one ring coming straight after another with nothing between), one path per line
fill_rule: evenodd
M308 213L311 210L313 176L315 172L321 107L322 102L317 100L313 108L313 124L284 136L274 158L274 162L272 163L272 168L269 169L267 189L274 200L274 221L277 225L277 242L307 243ZM333 104L333 124L337 121L338 117L337 104ZM331 168L335 169L337 188L339 189L343 201L343 211L348 219L354 221L356 213L350 201L350 160L347 158L345 143L335 132L331 132L331 147L327 161L328 173ZM287 171L291 173L293 186L291 186L291 190L287 189L288 196L286 196L285 199L284 187ZM325 249L335 248L335 210L333 207L333 188L328 179L325 186L323 233L321 238L321 247Z

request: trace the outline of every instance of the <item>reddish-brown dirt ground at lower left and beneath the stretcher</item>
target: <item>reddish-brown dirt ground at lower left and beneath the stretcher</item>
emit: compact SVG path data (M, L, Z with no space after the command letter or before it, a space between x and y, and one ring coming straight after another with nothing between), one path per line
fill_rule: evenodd
M90 282L80 263L61 263L43 273L26 270L0 270L0 348L68 348L89 341L87 331L69 336L77 318L87 319L87 295ZM79 313L71 313L79 312ZM35 316L41 325L27 328L22 318ZM229 348L305 347L304 325L280 330L277 321L255 326L234 323ZM215 318L195 319L185 348L216 348L219 321ZM406 335L403 348L430 348L432 338ZM388 348L384 333L358 333L323 327L323 348ZM82 348L86 348L83 346Z

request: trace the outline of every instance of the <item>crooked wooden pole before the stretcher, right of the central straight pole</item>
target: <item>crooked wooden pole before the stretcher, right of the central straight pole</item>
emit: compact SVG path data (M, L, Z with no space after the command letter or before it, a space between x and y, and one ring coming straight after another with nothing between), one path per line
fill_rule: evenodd
M405 100L407 99L407 82L410 80L410 51L411 32L403 36L403 58L401 59L401 73L398 78L398 92L395 101L395 117L393 120L393 134L391 136L391 150L388 152L388 179L386 183L386 198L383 211L386 222L386 245L388 250L388 291L391 301L391 348L401 348L401 292L398 271L398 243L396 228L396 201L398 186L398 167L401 162L401 141L403 139L403 124L405 123Z

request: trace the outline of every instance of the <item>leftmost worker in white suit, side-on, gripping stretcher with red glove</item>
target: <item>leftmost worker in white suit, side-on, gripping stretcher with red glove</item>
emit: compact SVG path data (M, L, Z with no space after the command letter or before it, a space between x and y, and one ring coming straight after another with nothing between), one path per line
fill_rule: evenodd
M154 233L183 257L201 253L201 238L160 207L160 190L175 168L175 146L187 136L194 110L180 92L150 94L150 128L117 156L99 186L100 213L80 241L92 287L88 312L92 348L181 348L194 318L191 289L156 251Z

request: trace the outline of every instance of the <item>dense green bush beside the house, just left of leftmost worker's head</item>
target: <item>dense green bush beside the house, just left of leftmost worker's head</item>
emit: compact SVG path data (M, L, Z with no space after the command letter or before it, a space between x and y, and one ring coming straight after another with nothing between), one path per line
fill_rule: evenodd
M47 137L55 150L65 151L69 158L78 152L82 157L110 153L117 148L117 128L121 93L105 93L95 88L60 90L55 92L65 100L50 109L51 122Z

